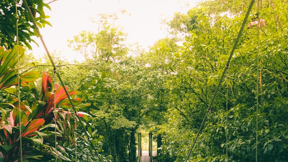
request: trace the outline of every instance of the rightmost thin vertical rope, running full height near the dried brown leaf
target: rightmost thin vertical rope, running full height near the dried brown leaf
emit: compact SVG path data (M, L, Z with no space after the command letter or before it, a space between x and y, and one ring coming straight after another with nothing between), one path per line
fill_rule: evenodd
M257 85L256 85L256 154L255 161L258 160L258 108L259 108L259 0L257 1L257 18L258 18L258 29L257 29Z

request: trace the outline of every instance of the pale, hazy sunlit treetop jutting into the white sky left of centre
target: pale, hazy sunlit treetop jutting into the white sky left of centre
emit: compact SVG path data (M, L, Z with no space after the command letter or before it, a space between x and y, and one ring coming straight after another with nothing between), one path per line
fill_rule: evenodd
M125 14L126 11L122 11ZM99 14L99 18L92 21L98 24L98 31L82 31L79 35L68 40L68 46L80 53L85 59L97 58L104 61L116 62L128 54L128 47L124 44L127 34L114 22L118 19L116 13Z

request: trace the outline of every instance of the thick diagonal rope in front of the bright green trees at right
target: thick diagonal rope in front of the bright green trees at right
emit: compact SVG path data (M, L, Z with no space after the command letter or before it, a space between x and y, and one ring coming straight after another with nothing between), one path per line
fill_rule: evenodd
M24 0L24 1L25 1L25 0ZM255 0L251 0L251 2L250 2L250 5L249 5L248 10L247 10L247 12L246 12L245 18L244 18L244 20L243 20L243 22L242 22L240 31L238 32L236 41L235 41L235 43L234 43L234 46L233 46L233 48L232 48L232 51L231 51L231 53L230 53L230 55L229 55L229 58L228 58L228 60L227 60L226 67L224 68L224 71L223 71L223 73L222 73L222 75L221 75L221 78L220 78L220 80L219 80L219 82L218 82L218 85L217 85L216 90L215 90L215 92L214 92L214 95L213 95L213 97L212 97L211 103L210 103L210 105L209 105L208 108L207 108L206 114L205 114L205 116L204 116L204 118L203 118L203 121L202 121L201 126L200 126L200 128L199 128L199 130L198 130L198 133L197 133L197 135L196 135L196 137L195 137L195 140L194 140L194 142L193 142L193 144L192 144L192 146L191 146L191 149L190 149L190 151L188 152L188 155L187 155L187 158L186 158L185 162L188 161L188 159L189 159L189 157L190 157L190 155L191 155L191 152L192 152L192 150L193 150L193 148L194 148L194 146L195 146L195 143L196 143L196 141L197 141L197 139L198 139L198 137L199 137L199 134L200 134L200 132L201 132L201 131L203 130L203 128L204 128L204 123L205 123L205 121L206 121L206 119L207 119L207 114L208 114L208 112L210 111L211 106L212 106L213 103L214 103L214 100L215 100L216 95L217 95L217 93L218 93L219 87L220 87L220 85L221 85L221 83L222 83L222 81L223 81L224 75L225 75L225 73L226 73L226 71L227 71L227 67L229 67L229 63L230 63L230 61L231 61L232 55L233 55L235 49L237 48L237 44L238 44L239 39L240 39L240 36L241 36L241 34L242 34L242 32L243 32L244 26L245 26L245 24L246 24L246 21L247 21L247 19L248 19L248 16L249 16L249 14L250 14L250 11L251 11L251 9L252 9L252 6L253 6L253 4L254 4L254 1L255 1Z

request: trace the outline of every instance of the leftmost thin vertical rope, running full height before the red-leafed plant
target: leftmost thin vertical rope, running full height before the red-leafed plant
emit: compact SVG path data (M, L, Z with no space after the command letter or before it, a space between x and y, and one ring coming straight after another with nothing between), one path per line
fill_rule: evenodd
M17 9L17 0L15 0L15 12L16 12L16 42L17 42L17 79L18 79L18 104L19 104L19 126L20 126L20 160L21 162L23 161L23 157L22 157L22 130L21 130L21 101L20 101L20 72L19 72L19 40L18 40L18 20L19 20L19 16L18 16L18 9Z

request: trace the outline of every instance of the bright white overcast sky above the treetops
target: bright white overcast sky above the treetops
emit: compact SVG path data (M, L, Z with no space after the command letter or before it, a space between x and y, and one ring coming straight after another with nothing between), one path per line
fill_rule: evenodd
M52 0L46 0L46 3ZM46 15L53 27L46 26L41 30L50 52L57 51L61 58L73 61L76 52L67 46L67 39L73 39L82 30L97 32L97 24L91 17L97 18L99 13L120 13L127 10L131 16L118 14L117 25L123 27L128 34L127 45L139 43L148 49L158 39L165 38L167 31L161 19L171 19L175 12L187 13L201 0L58 0L46 9ZM39 47L32 43L32 52L36 58L43 57L45 50L39 38L34 38ZM80 54L76 59L82 61Z

